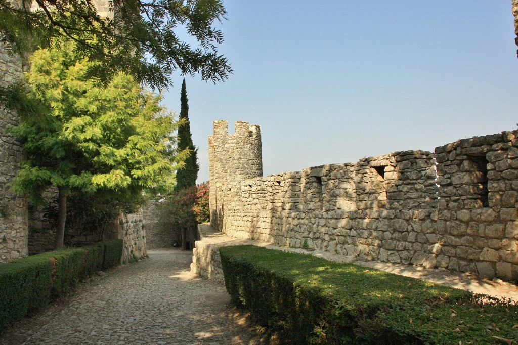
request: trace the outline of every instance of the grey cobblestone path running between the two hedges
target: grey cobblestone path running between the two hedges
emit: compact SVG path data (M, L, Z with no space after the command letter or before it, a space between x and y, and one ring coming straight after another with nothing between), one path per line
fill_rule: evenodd
M190 251L149 251L11 327L7 344L262 344L223 286L190 272Z

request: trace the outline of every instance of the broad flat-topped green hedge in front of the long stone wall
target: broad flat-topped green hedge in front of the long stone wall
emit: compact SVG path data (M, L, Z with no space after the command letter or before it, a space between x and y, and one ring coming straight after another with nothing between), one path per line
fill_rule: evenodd
M518 340L518 306L510 301L255 246L224 247L220 254L233 303L250 311L280 343Z

